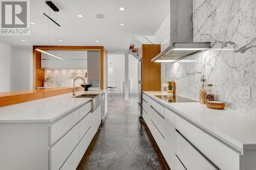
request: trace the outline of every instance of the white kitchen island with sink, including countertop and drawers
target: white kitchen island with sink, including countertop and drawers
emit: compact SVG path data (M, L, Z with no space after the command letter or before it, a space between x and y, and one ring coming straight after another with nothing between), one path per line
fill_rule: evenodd
M103 93L106 99L106 90L76 91L76 96L100 99ZM102 120L100 104L92 108L92 98L76 96L0 107L0 169L75 169Z

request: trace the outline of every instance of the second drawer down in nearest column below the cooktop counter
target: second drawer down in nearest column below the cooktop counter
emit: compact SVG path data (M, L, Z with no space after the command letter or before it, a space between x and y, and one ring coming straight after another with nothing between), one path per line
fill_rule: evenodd
M211 163L177 132L175 134L175 152L187 170L216 170Z

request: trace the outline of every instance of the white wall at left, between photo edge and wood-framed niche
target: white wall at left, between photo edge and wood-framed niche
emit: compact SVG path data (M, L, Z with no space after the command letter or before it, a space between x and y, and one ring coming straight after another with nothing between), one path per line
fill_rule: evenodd
M0 92L33 88L33 53L0 42Z

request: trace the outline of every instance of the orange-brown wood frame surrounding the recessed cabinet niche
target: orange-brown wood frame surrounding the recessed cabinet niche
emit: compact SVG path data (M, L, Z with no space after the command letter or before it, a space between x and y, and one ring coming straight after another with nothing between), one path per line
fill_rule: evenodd
M38 80L39 75L45 75L45 70L41 69L41 53L35 51L36 48L41 50L63 50L63 51L99 51L100 52L100 89L104 88L104 57L107 57L104 46L33 46L33 89L41 87L44 82ZM108 76L108 75L105 75Z

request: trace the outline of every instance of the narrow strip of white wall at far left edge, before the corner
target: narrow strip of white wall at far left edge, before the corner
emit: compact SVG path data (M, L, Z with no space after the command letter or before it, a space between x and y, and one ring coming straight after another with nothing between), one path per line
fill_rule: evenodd
M11 46L0 42L0 92L11 90Z

